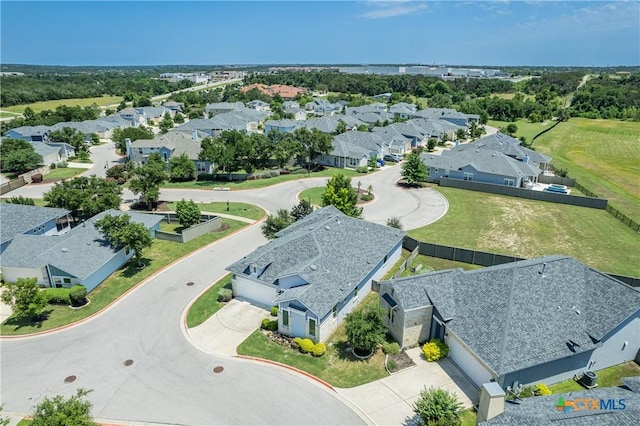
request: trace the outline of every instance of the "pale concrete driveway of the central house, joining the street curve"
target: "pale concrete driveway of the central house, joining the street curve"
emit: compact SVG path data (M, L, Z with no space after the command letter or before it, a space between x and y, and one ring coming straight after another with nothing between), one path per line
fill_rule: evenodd
M204 352L237 355L236 348L251 333L260 328L266 309L234 298L211 318L188 331L191 343Z

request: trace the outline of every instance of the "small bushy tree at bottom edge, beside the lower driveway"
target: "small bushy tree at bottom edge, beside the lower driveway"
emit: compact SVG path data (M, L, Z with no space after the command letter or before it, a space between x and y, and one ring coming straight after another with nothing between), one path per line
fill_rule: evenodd
M420 398L413 406L420 424L424 426L460 425L461 410L462 403L455 394L434 387L420 392Z

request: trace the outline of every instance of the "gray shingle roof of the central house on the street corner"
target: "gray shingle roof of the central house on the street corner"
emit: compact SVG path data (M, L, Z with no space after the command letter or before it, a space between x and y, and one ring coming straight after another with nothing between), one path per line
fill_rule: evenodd
M371 236L375 235L375 243ZM227 267L245 274L265 268L259 280L273 284L300 276L308 285L282 293L295 297L319 317L353 291L378 262L398 245L404 231L345 216L335 207L316 210L278 234L278 238Z

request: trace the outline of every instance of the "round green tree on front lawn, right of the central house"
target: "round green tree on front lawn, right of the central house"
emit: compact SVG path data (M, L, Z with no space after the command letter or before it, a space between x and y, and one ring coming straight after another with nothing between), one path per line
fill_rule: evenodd
M347 341L360 353L371 353L384 341L387 332L384 312L379 306L353 311L345 317Z

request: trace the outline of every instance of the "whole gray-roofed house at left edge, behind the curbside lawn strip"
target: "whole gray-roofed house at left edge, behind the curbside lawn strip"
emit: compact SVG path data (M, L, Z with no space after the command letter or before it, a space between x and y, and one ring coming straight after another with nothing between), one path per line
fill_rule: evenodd
M94 223L106 216L127 214L142 223L151 236L160 228L163 216L107 210L69 232L58 235L17 235L2 254L2 274L6 281L36 278L41 287L84 285L96 288L132 256L133 251L114 247Z

